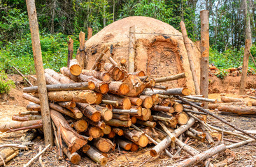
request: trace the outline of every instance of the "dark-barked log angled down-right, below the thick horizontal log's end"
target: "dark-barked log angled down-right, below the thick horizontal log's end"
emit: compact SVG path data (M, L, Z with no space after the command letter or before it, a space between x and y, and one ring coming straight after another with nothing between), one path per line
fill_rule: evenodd
M98 122L101 120L101 113L97 111L97 109L94 108L94 106L90 104L85 103L76 103L78 106L78 109L85 115L87 118L90 118L90 120L93 120L94 122Z

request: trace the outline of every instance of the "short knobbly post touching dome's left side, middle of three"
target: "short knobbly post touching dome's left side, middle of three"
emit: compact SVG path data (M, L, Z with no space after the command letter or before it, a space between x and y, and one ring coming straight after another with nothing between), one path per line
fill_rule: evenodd
M82 69L85 68L85 33L80 31L79 33L80 46L78 48L78 53L76 54L76 59Z

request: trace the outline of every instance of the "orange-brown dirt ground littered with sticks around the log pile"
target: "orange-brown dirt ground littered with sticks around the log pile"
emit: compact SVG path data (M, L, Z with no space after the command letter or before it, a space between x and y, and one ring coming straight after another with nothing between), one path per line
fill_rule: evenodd
M17 114L20 111L26 111L25 106L29 103L29 101L24 100L22 98L22 88L24 87L24 81L22 77L14 75L10 76L13 81L15 81L16 88L11 90L10 95L7 100L0 101L0 122L10 122L11 116L13 114ZM33 79L29 78L29 80L33 81ZM33 83L35 83L33 81ZM210 87L210 89L213 87ZM255 87L254 87L255 88ZM220 89L220 88L219 88ZM218 99L220 98L220 93L227 93L227 96L230 97L238 97L238 95L229 94L229 92L218 92L215 94L209 95L210 98ZM248 97L246 97L248 99ZM214 111L213 111L214 112ZM241 116L222 116L228 122L240 127L241 129L252 130L256 129L255 120L256 118L248 118ZM231 127L227 127L227 125L223 125L215 118L211 118L208 116L208 122L212 122L211 125L218 126L223 129L231 129ZM232 130L232 129L231 129ZM8 134L0 134L0 144L2 143L20 143L20 136L24 135L26 132L13 132ZM13 160L9 161L7 166L23 166L26 164L32 157L34 157L38 153L39 145L43 145L43 134L39 134L37 138L32 141L34 143L34 148L32 150L20 150L20 154L15 157ZM234 141L242 141L243 138L238 138L230 135L225 135L224 138L232 139ZM183 138L185 140L185 138ZM232 142L223 141L225 145L230 145ZM215 145L219 142L215 140ZM222 143L222 141L220 141ZM208 145L206 143L201 143L199 141L190 140L188 142L193 148L196 148L200 152L203 150L207 150L211 148L213 145ZM162 152L157 155L157 157L151 157L149 154L150 148L153 145L148 145L146 148L140 148L137 152L127 152L122 150L122 148L118 148L118 146L108 154L108 164L106 166L167 166L180 161L181 159L187 158L187 154L185 152L181 152L179 159L170 159L169 157ZM250 143L250 145L243 145L241 148L234 148L232 151L236 154L236 161L229 166L256 166L256 143ZM172 154L175 154L177 149L169 151ZM43 162L45 166L98 166L95 164L90 158L88 158L85 154L81 154L82 160L79 165L72 165L68 159L64 159L61 161L57 160L57 149L52 147L48 149L43 154ZM222 161L225 159L224 153L218 154L211 162L217 163L218 161ZM38 161L35 161L31 166L39 166ZM195 165L201 166L201 165Z

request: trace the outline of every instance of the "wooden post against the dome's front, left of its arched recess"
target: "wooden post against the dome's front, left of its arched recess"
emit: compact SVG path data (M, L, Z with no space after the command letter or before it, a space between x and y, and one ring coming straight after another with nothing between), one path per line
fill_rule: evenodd
M135 26L129 29L129 65L128 72L134 72L135 62Z

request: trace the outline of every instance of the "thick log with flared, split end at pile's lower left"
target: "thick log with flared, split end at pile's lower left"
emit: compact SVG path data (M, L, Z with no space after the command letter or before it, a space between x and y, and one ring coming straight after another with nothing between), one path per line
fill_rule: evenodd
M76 152L87 143L83 137L79 136L79 134L77 134L76 131L69 126L69 123L65 120L61 113L50 110L50 116L52 121L55 123L55 126L60 129L62 138L71 153Z

